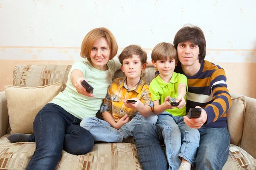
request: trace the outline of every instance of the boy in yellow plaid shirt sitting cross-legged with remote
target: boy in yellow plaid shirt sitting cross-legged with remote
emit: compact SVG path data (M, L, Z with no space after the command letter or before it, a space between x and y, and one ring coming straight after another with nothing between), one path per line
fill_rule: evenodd
M133 136L136 125L148 122L154 125L157 116L147 82L141 77L146 69L147 54L139 45L129 45L119 55L125 77L114 79L108 88L101 108L104 120L85 118L80 126L90 131L94 141L122 142ZM128 99L137 102L129 103Z

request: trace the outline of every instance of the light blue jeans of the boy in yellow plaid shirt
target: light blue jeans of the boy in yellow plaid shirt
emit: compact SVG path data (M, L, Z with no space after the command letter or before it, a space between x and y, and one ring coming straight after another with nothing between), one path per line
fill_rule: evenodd
M151 112L149 117L143 117L140 113L137 113L130 122L122 125L117 130L112 127L108 122L98 119L96 117L88 117L81 121L80 126L90 131L94 141L102 142L122 142L123 139L127 139L129 136L133 136L133 129L135 126L148 122L154 125L157 122L157 115Z

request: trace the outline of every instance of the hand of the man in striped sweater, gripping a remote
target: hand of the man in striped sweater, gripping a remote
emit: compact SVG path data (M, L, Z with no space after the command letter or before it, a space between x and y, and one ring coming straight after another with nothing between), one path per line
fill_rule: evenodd
M196 106L195 108L201 108L200 106ZM191 118L189 119L187 116L183 116L184 122L189 127L199 129L204 125L204 123L207 121L207 113L202 108L202 112L199 118Z

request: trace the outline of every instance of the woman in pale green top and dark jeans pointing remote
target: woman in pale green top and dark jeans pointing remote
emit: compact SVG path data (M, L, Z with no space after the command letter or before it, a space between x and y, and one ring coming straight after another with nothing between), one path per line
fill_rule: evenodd
M34 134L8 136L11 142L36 142L36 150L26 170L54 170L62 149L81 155L93 148L93 137L80 127L81 119L95 117L105 98L116 70L113 60L118 46L107 28L95 28L81 45L81 57L73 63L67 87L38 112L33 123ZM90 94L81 85L86 80L93 88Z

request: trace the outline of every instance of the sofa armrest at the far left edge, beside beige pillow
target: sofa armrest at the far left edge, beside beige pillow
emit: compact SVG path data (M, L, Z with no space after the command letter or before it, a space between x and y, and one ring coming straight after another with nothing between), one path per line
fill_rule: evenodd
M7 133L9 125L9 116L7 109L7 100L4 91L0 92L0 136Z

